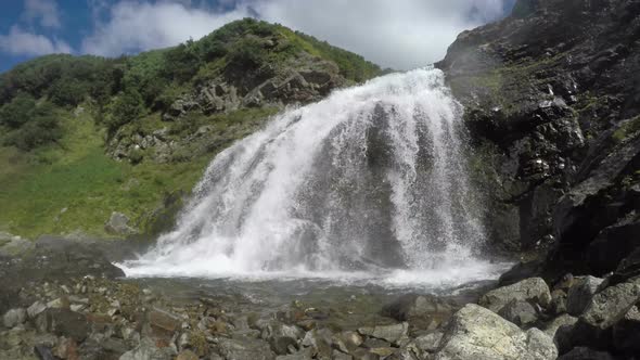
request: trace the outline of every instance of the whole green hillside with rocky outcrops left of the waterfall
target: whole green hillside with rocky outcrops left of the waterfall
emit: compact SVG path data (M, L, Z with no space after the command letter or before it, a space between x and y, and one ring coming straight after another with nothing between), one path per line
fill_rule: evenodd
M113 235L157 232L215 153L284 105L381 73L251 18L135 56L20 64L0 75L0 232L102 236L113 211L131 219Z

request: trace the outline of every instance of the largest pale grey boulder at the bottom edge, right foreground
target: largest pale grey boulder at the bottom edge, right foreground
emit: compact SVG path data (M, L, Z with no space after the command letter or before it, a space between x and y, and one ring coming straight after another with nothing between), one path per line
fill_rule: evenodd
M553 340L537 329L526 333L481 306L469 304L453 314L437 360L448 359L555 359Z

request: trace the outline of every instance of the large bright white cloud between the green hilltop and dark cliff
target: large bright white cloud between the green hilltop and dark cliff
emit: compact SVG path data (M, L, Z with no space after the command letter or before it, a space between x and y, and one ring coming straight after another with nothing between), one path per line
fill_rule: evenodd
M502 14L502 0L267 0L253 7L279 22L383 66L413 68L444 57L464 29Z

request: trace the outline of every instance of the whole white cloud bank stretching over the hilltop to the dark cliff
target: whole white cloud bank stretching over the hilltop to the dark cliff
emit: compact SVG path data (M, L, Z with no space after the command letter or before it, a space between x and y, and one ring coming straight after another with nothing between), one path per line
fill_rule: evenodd
M97 1L97 0L93 0ZM440 60L456 36L502 14L505 0L221 0L120 1L95 21L82 52L119 55L199 39L221 25L256 15L313 35L394 68ZM508 1L508 0L507 0ZM97 17L99 18L99 17Z

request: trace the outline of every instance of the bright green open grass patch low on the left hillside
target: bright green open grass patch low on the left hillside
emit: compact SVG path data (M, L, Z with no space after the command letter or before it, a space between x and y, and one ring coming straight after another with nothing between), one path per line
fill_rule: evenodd
M0 224L23 236L82 232L105 235L112 211L133 218L168 192L189 191L210 159L133 166L104 154L103 130L88 114L68 115L61 146L34 153L0 149ZM66 209L66 210L63 210Z

